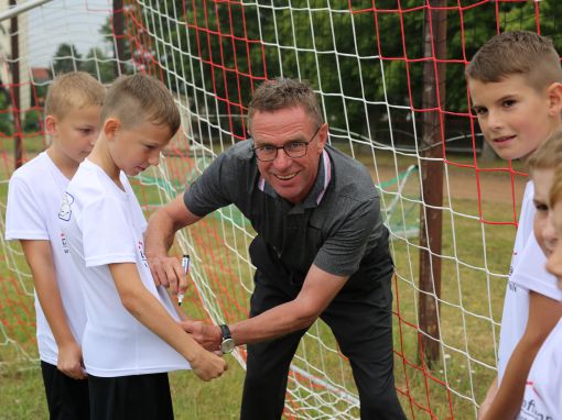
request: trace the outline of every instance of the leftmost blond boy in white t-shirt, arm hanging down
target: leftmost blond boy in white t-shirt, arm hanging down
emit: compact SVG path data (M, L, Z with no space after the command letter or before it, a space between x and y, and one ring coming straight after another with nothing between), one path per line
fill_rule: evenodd
M50 147L10 178L6 239L20 240L35 286L37 347L51 419L89 417L80 341L86 312L66 240L61 198L98 135L106 89L86 73L57 77L45 102Z

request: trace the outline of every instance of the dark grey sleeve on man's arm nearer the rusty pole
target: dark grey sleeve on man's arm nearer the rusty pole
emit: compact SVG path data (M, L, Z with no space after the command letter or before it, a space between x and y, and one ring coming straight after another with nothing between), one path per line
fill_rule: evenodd
M314 265L336 276L350 276L359 268L369 236L380 224L378 198L360 202L334 228Z

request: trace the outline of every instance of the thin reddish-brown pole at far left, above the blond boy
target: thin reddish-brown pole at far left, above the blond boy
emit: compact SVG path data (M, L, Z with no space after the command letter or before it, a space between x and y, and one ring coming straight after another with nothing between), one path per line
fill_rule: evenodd
M10 5L15 7L15 0L10 0ZM10 20L10 42L12 47L12 114L13 114L13 162L18 169L23 164L23 151L21 139L21 110L20 110L20 45L18 35L18 15Z

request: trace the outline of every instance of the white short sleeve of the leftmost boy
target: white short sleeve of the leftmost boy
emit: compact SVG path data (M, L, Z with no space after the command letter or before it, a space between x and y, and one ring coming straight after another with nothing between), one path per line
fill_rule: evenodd
M10 179L6 209L6 240L46 240L47 224L44 206L37 195L20 178Z

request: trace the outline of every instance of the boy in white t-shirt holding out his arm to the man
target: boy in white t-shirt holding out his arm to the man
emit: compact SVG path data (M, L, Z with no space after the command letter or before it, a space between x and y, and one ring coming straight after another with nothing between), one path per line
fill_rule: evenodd
M144 256L145 219L127 176L158 165L180 128L180 113L156 79L116 80L101 110L101 129L69 183L60 219L80 270L88 322L84 362L93 419L172 419L167 372L204 379L226 363L180 324L166 290Z

